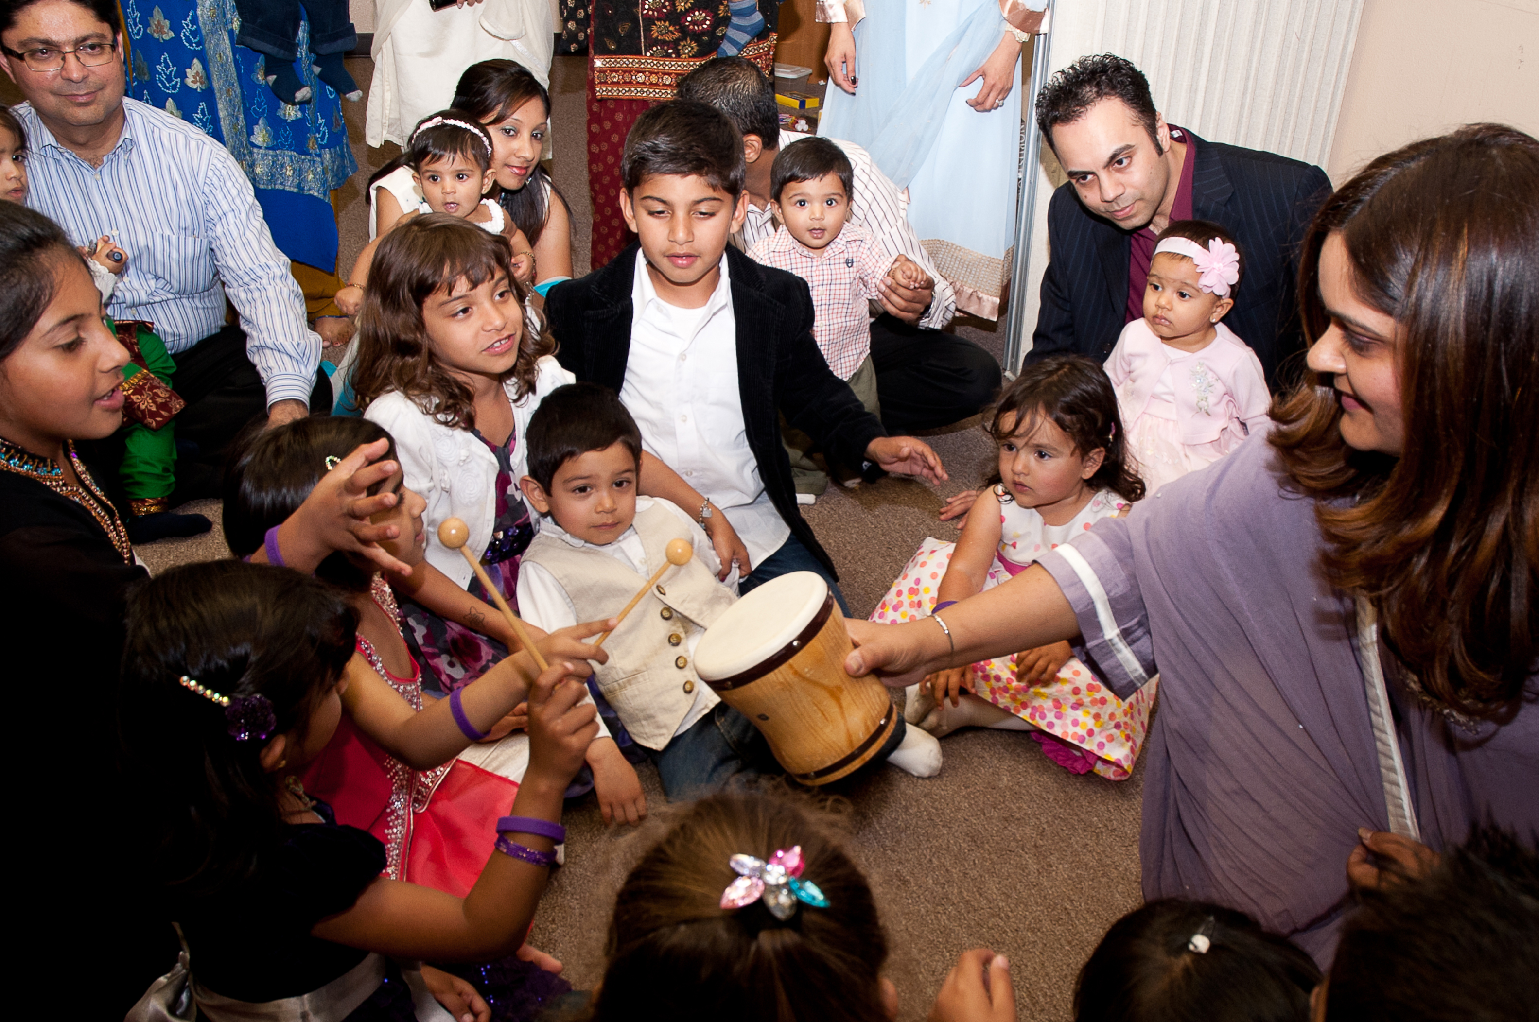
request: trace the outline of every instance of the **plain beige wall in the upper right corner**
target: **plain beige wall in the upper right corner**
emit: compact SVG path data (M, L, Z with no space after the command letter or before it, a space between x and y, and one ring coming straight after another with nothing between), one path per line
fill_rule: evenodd
M1331 180L1473 120L1539 135L1539 0L1365 0Z

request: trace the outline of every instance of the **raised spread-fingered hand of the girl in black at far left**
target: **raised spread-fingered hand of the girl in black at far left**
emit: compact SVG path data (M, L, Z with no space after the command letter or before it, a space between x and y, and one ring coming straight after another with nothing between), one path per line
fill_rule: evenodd
M279 526L279 549L288 566L314 571L322 560L342 551L360 554L388 573L411 574L411 565L380 546L400 536L400 528L369 520L400 499L392 493L368 496L369 486L400 471L396 462L376 462L388 449L388 440L365 443L320 477L305 503ZM259 549L254 559L265 562L266 553Z

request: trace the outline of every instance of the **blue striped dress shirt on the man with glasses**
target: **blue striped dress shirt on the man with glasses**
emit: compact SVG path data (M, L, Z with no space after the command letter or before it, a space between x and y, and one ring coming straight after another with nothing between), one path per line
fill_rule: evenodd
M225 146L125 97L123 134L102 166L91 166L29 103L11 109L26 128L26 203L75 245L112 234L128 252L111 316L152 322L174 356L225 326L228 292L268 403L309 403L320 337L306 325L305 296L251 182Z

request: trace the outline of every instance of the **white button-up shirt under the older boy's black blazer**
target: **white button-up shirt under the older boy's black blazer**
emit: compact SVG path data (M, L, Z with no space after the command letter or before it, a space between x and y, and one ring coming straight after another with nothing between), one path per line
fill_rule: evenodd
M737 529L753 563L763 563L791 536L791 526L770 500L748 446L726 256L711 300L699 309L680 309L657 297L646 259L637 251L631 303L631 354L620 400L642 429L642 446L709 497Z

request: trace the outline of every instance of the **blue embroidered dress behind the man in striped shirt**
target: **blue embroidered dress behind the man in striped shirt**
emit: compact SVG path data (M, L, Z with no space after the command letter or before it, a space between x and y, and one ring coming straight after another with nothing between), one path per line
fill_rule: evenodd
M232 0L123 0L128 92L189 120L225 143L251 179L272 240L297 263L337 265L331 189L357 169L342 119L342 97L305 63L315 99L279 102L266 58L235 46ZM309 22L299 31L306 51Z

